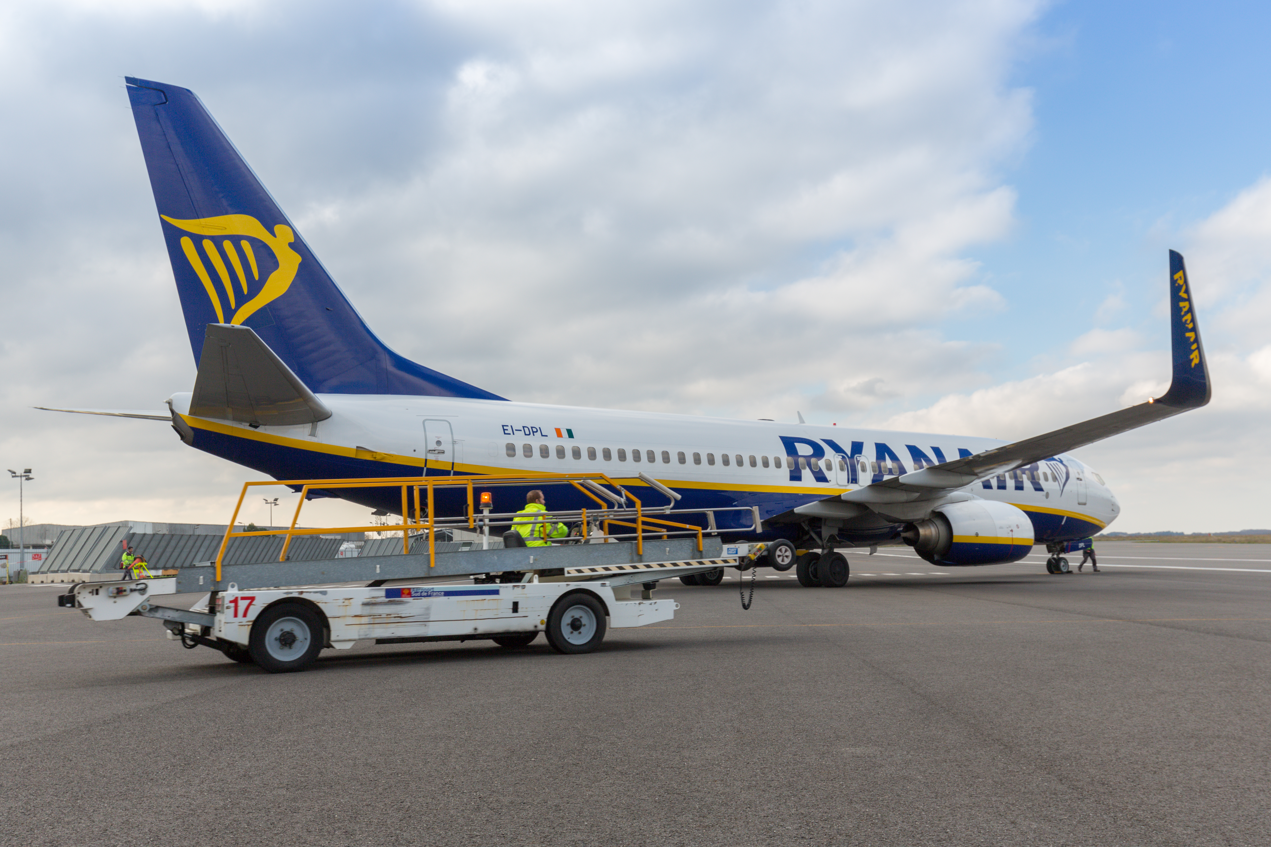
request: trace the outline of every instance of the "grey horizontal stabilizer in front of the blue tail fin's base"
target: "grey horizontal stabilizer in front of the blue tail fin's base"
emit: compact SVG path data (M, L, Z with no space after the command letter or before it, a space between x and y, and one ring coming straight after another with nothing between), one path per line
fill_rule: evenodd
M330 417L249 326L207 324L189 414L263 427L294 427Z

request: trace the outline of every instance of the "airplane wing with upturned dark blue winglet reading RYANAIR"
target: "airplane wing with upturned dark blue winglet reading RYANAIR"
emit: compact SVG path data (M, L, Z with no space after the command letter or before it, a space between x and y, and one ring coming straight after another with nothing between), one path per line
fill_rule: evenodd
M1057 453L1092 444L1110 436L1138 429L1149 423L1182 414L1188 409L1204 406L1209 403L1211 392L1209 366L1205 362L1205 347L1200 340L1200 325L1196 323L1196 310L1192 306L1187 269L1183 265L1182 255L1174 250L1169 251L1169 293L1173 380L1163 396L1042 436L995 447L975 456L965 456L941 465L930 465L902 476L892 476L830 499L860 504L911 503L933 499L986 476L1005 474Z

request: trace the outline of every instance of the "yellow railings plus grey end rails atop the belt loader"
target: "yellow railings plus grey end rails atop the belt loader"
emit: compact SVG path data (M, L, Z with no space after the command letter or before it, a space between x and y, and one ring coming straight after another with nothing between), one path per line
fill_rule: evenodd
M667 497L670 503L662 507L646 508L644 504L634 494L624 489L619 480L630 483L641 483L649 485L655 490L661 491ZM234 526L238 521L239 510L243 508L243 500L247 498L248 489L263 486L263 485L287 485L292 489L299 488L300 502L296 504L296 512L291 517L291 524L285 531L278 530L255 530L250 532L235 532ZM494 524L513 524L516 522L524 522L525 514L520 512L502 512L491 514L487 509L483 509L480 517L475 513L475 503L473 499L475 488L489 489L489 488L510 488L510 486L525 486L533 485L535 488L548 486L548 485L572 485L574 489L585 494L591 500L595 500L600 508L597 509L577 509L577 510L561 510L553 509L550 518L553 521L564 519L580 519L582 522L582 537L580 541L587 542L596 540L596 536L587 535L588 518L592 524L599 523L604 535L602 540L618 540L618 538L636 538L637 554L644 554L644 536L684 536L695 535L698 541L698 551L702 551L702 527L693 526L689 523L677 523L675 521L667 521L662 517L653 518L649 514L667 516L667 514L707 514L709 519L709 530L713 532L719 532L716 528L716 512L751 512L754 516L754 523L750 527L741 527L737 530L724 530L724 532L750 532L759 530L759 512L752 507L724 507L719 509L674 509L675 502L680 499L680 495L667 486L652 480L643 474L639 477L619 477L618 480L611 479L605 474L538 474L534 476L512 475L512 476L436 476L436 477L419 477L419 476L384 476L384 477L367 477L367 479L330 479L330 480L266 480L258 483L244 483L243 491L239 494L238 503L234 505L234 514L230 517L229 526L225 530L225 537L221 540L220 550L216 552L216 580L221 579L221 561L225 557L225 550L229 546L230 538L239 538L245 536L285 536L282 544L282 551L278 555L278 561L287 560L287 549L291 546L291 540L295 536L313 536L313 535L330 535L333 532L402 532L402 552L411 552L411 533L412 532L427 532L428 537L428 566L436 565L436 531L446 528L459 528L466 526L470 530L478 527L478 522L489 532L489 527ZM606 485L613 486L616 491L611 491ZM380 526L380 524L366 524L357 527L334 527L325 530L297 530L296 523L300 521L300 510L304 508L305 502L309 499L310 491L314 490L336 490L336 489L357 489L357 488L400 488L402 490L402 523ZM436 516L435 507L435 493L436 489L465 489L468 497L468 514L466 517L442 517ZM421 490L423 491L421 494ZM601 499L605 498L605 499ZM609 500L606 504L605 500ZM627 502L634 503L634 507L627 505ZM414 519L411 519L411 507L414 507ZM624 535L611 535L609 532L610 526L630 527L634 528L634 533Z

